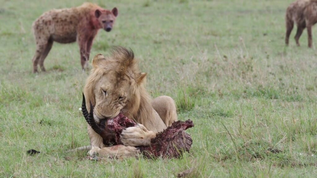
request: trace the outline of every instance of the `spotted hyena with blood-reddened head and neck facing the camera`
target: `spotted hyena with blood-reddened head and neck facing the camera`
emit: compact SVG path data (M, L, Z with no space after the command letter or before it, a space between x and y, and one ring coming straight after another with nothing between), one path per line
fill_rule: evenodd
M50 10L40 16L32 25L36 41L33 57L33 72L37 72L40 62L42 71L44 59L52 48L53 41L71 43L77 41L80 48L81 67L89 60L90 49L98 30L111 31L118 16L117 8L105 10L93 3L84 3L70 9Z

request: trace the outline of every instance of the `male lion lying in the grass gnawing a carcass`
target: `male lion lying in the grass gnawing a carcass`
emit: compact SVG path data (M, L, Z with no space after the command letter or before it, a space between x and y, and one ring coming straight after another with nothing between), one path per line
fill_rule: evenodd
M132 50L113 48L111 55L97 54L92 62L93 69L84 88L86 106L94 106L94 119L110 119L120 112L136 121L138 126L122 131L124 145L106 147L102 138L89 125L91 149L89 155L127 157L139 152L135 146L148 146L156 133L163 131L177 120L174 100L160 96L151 101L144 84L146 73L139 71Z

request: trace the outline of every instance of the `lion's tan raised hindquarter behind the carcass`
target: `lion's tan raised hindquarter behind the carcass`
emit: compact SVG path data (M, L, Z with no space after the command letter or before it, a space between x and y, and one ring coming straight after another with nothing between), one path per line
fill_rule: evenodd
M174 100L169 96L159 96L152 100L152 107L159 114L166 126L177 121L177 110Z

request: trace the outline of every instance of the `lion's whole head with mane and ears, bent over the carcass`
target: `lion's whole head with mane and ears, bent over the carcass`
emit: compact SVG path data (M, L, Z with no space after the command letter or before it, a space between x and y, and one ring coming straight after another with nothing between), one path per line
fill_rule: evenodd
M114 47L109 56L97 54L92 66L84 93L86 105L89 106L89 101L94 105L96 120L113 118L120 112L137 119L140 103L150 106L143 86L146 73L140 72L132 50Z

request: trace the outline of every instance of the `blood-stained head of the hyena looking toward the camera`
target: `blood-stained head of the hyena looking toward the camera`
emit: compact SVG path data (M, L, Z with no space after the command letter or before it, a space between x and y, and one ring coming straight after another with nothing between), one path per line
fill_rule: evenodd
M98 19L101 27L107 32L110 32L112 30L113 23L118 16L118 9L113 8L111 11L97 9L95 11L95 16Z

